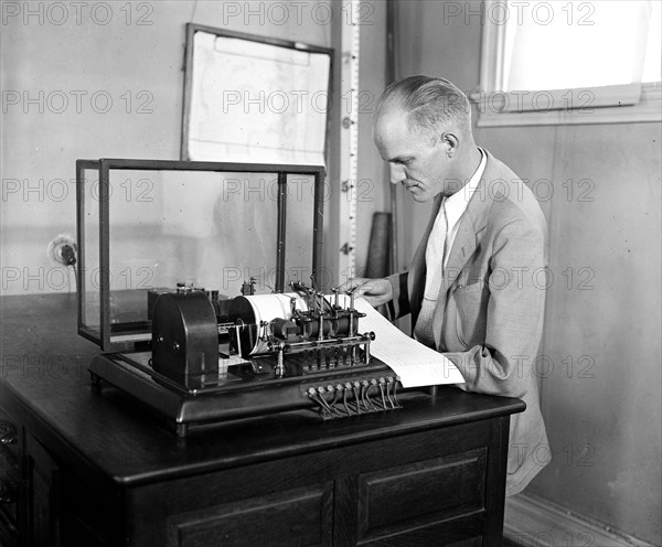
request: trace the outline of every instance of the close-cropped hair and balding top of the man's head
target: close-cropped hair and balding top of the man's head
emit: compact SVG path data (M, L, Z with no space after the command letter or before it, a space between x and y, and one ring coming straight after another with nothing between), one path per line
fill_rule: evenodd
M375 124L385 114L398 110L406 115L409 131L425 133L433 142L445 131L473 140L469 100L447 79L409 76L395 82L380 98Z

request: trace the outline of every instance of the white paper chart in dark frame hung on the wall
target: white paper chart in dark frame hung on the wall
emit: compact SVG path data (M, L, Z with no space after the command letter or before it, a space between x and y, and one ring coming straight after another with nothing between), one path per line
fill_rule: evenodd
M191 160L324 164L330 56L199 31Z

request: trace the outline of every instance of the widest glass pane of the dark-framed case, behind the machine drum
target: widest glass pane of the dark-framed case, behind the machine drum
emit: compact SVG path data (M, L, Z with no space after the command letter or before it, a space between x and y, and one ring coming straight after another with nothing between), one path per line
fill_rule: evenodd
M275 174L111 169L109 181L114 342L149 337L150 289L186 283L235 297L254 277L256 292L271 291ZM127 337L127 329L147 336Z

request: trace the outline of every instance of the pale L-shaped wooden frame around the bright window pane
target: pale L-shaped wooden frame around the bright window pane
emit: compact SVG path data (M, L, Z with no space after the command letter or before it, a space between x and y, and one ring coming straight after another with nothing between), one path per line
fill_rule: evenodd
M490 4L503 0L485 0ZM502 92L505 24L482 25L477 127L662 121L662 83Z

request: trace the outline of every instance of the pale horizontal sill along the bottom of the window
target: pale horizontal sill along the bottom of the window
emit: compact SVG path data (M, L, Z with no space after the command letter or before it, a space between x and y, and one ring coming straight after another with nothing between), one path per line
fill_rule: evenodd
M503 95L503 94L501 94ZM596 106L588 108L551 109L543 105L540 109L504 109L503 100L494 100L494 95L472 93L470 99L476 106L477 127L508 126L563 126L590 124L638 124L662 121L662 85L658 83L641 86L641 99L634 105ZM516 105L516 100L512 101Z

